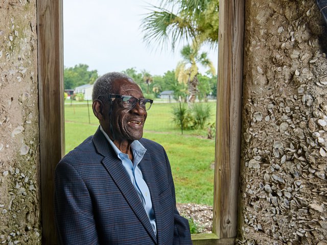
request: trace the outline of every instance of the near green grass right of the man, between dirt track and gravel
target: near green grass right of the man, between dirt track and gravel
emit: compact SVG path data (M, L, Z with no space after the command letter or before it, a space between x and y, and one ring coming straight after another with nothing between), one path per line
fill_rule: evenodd
M215 141L196 136L144 133L167 151L178 203L212 205L214 193Z

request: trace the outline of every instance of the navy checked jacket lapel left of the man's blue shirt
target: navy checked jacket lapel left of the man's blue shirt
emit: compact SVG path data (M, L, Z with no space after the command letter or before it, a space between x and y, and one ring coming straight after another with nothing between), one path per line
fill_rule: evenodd
M145 227L152 239L156 242L155 234L152 230L148 215L142 205L142 202L141 200L139 200L136 190L128 174L126 173L126 170L123 164L121 163L121 160L115 155L107 139L100 131L100 128L94 135L93 141L98 153L104 156L102 163L107 169L112 180L122 192L125 200L129 204L130 208L133 210L139 221Z

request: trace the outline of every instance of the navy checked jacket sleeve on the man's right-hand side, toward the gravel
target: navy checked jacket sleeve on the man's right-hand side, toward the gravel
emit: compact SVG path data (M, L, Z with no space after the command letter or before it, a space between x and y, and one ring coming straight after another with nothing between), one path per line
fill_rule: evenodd
M170 163L164 150L166 162L167 162L167 169L168 169L168 178L169 178L169 185L172 192L172 198L174 201L174 240L173 245L192 245L191 240L191 232L190 232L190 225L189 220L182 217L176 207L176 196L175 196L175 186L173 181L173 176L171 172Z

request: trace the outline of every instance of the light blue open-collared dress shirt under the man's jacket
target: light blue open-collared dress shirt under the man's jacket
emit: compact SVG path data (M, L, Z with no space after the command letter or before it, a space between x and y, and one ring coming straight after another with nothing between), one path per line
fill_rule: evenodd
M112 146L114 152L117 154L118 158L121 159L123 166L125 167L127 174L138 194L139 199L141 199L141 202L143 204L143 207L149 217L152 229L154 231L154 234L157 235L156 231L156 224L155 224L155 216L154 211L152 208L152 202L151 202L151 195L149 191L149 187L147 183L143 179L143 175L141 172L141 169L138 167L138 163L141 162L145 152L147 149L144 148L144 146L138 141L134 140L131 144L131 149L134 157L134 164L129 159L129 156L125 153L122 153L117 146L112 142L112 140L109 138L109 136L104 132L102 127L100 126L101 132L104 134L110 145Z

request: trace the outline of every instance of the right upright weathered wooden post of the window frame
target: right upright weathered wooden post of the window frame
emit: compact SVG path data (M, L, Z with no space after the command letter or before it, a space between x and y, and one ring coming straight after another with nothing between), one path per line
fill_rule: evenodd
M230 238L237 235L244 0L221 0L219 20L213 232Z

